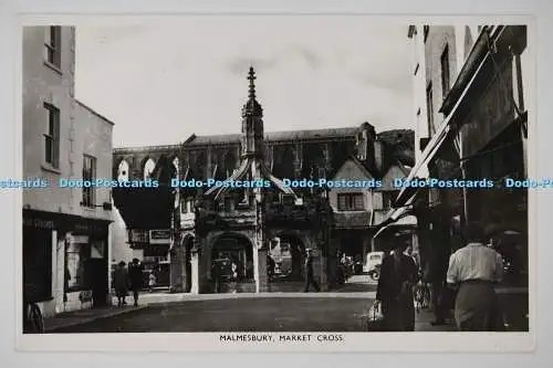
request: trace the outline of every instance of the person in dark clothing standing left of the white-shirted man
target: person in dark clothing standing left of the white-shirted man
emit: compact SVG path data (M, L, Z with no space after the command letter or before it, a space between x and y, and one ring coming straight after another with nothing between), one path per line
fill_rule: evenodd
M380 307L386 330L415 330L413 287L418 278L413 259L404 254L407 244L400 238L393 243L394 252L384 256L376 291L375 307Z

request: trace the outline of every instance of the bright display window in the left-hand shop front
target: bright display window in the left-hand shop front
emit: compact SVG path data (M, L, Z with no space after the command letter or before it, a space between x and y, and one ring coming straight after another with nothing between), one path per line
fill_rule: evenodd
M88 236L75 235L65 249L65 283L67 292L79 292L90 288L86 264L91 259Z

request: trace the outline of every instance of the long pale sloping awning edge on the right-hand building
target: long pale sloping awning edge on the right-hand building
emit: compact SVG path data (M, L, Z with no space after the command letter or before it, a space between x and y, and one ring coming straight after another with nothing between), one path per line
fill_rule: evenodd
M409 176L407 177L407 181L417 179L417 178L426 178L426 172L422 172L424 169L428 167L428 164L436 157L438 151L440 151L445 145L447 145L446 141L448 141L450 145L452 145L452 140L455 136L459 133L460 125L458 122L453 124L453 116L456 116L456 113L459 108L459 106L465 103L465 96L467 93L471 90L471 86L473 85L474 81L477 80L478 75L480 74L480 71L487 64L487 62L490 60L490 52L487 50L487 43L488 43L488 38L489 35L487 32L482 32L474 43L473 50L469 54L469 57L467 60L467 63L465 64L463 69L461 70L461 73L459 74L453 87L451 88L451 94L460 90L460 85L465 85L462 88L462 93L457 94L458 98L457 102L455 103L453 107L449 111L447 117L444 119L444 122L440 124L438 132L431 137L430 141L426 146L425 150L422 151L420 160L415 165L413 170L409 172ZM481 53L481 50L484 50L484 53ZM467 64L469 63L469 60L472 60L473 56L479 54L481 55L479 60L476 60L474 63L478 63L478 67L474 70L473 67L470 67L473 70L473 73L471 73L470 80L468 80L468 74ZM426 170L425 170L426 171ZM396 198L395 206L396 207L401 207L405 204L405 202L415 193L417 193L418 189L417 188L410 188L410 187L404 187L399 194Z

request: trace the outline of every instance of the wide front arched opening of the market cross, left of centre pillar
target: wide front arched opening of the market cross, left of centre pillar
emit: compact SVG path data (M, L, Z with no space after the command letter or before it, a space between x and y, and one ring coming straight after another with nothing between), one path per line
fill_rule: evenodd
M213 267L220 265L226 260L230 260L238 266L237 273L239 280L253 280L253 246L254 242L243 233L233 231L223 232L210 242L207 254L208 265Z

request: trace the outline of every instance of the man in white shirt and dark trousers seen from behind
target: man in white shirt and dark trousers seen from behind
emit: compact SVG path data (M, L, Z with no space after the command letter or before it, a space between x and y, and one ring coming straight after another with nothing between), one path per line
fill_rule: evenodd
M494 284L503 278L503 260L483 244L484 231L479 223L465 229L467 245L449 260L447 283L457 288L455 319L459 330L497 332L503 329Z

